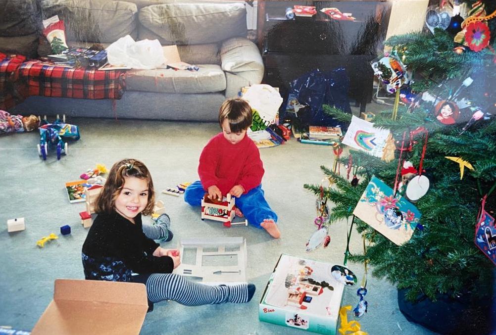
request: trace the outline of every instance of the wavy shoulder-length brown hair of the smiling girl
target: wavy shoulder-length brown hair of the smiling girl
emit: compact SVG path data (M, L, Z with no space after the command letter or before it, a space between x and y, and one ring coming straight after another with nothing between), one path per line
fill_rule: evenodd
M124 177L136 177L147 181L148 203L141 213L143 215L151 214L155 204L152 177L148 168L142 162L135 159L125 159L112 166L103 190L96 200L95 212L108 214L115 212L116 199L124 187Z

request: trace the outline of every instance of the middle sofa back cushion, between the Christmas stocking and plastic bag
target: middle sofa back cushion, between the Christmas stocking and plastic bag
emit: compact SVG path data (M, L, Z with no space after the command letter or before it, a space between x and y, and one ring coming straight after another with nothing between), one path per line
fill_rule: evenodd
M43 0L43 18L64 21L67 40L112 43L125 35L137 38L134 3L108 0Z

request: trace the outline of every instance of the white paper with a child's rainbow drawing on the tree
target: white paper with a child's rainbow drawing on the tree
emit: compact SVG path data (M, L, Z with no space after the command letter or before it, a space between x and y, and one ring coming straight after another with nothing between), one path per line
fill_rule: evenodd
M375 128L373 123L353 115L343 144L381 158L388 135L389 130Z

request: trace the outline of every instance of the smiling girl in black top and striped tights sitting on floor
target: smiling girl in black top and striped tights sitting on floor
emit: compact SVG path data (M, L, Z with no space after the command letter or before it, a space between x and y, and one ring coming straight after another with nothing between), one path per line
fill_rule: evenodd
M197 306L250 301L253 284L210 286L172 274L180 264L179 250L161 248L142 230L141 213L150 214L154 203L152 178L143 163L125 159L114 164L83 244L85 278L144 283L150 303L175 300Z

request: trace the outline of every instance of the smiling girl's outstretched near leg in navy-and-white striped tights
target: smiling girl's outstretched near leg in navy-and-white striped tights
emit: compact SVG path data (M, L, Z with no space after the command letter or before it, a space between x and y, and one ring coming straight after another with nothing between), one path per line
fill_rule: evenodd
M248 302L253 293L248 284L210 286L176 274L152 274L146 281L148 299L152 302L174 300L186 306Z

